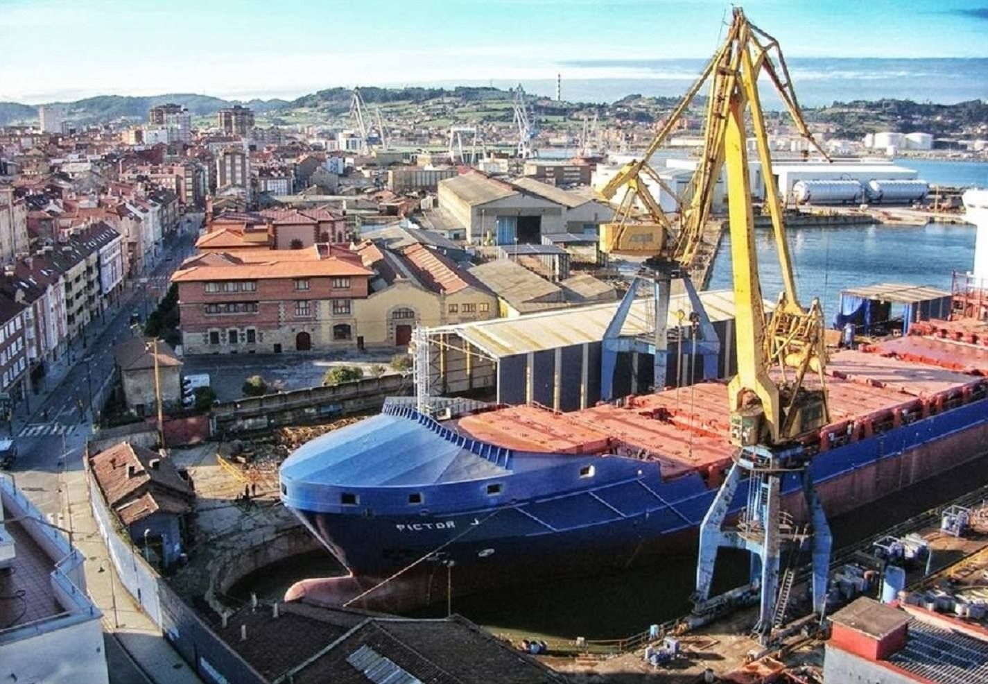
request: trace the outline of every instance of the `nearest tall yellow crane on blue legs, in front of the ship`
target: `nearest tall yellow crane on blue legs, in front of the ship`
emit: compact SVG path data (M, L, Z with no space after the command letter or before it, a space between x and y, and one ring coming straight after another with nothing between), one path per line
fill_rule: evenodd
M811 541L813 606L822 613L831 536L810 477L812 453L800 443L800 438L829 422L823 311L819 300L813 299L808 308L803 308L796 296L758 89L763 76L775 86L795 127L823 152L802 117L779 43L749 22L740 8L733 11L724 42L663 130L671 127L710 79L702 159L693 179L690 206L684 210L684 229L672 254L676 258L686 256L690 241L696 239L690 231L702 225L709 213L714 184L726 171L738 370L728 385L730 442L735 452L730 470L700 524L695 614L700 618L709 616L757 595L760 611L754 632L762 641L768 641L782 620L794 577L794 567L781 567L782 548L801 548ZM748 173L749 135L755 139L762 165L765 203L772 217L782 273L783 291L771 315L766 314L759 283ZM816 385L809 382L814 375ZM782 511L786 475L789 481L793 477L801 480L810 514L810 525L801 529L796 529ZM747 507L736 526L724 528L735 494L743 495L745 489ZM752 562L747 586L711 598L713 566L721 547L745 549L757 561ZM791 558L797 556L789 554Z

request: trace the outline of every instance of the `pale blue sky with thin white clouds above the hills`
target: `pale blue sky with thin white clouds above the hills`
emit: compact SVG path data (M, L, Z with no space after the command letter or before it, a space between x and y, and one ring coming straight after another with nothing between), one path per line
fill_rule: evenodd
M988 57L988 0L744 7L787 56ZM708 56L729 13L714 0L0 0L0 100L648 77L627 60Z

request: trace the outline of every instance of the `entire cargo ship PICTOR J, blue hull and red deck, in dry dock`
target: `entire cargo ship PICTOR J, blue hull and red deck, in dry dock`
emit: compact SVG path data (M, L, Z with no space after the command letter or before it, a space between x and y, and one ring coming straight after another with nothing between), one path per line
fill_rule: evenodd
M806 438L829 516L988 453L988 325L932 321L832 355L831 422ZM559 413L437 421L408 405L328 433L281 469L284 503L350 570L290 596L408 610L454 593L695 548L731 464L727 386ZM798 513L799 482L783 484ZM742 483L732 504L747 499Z

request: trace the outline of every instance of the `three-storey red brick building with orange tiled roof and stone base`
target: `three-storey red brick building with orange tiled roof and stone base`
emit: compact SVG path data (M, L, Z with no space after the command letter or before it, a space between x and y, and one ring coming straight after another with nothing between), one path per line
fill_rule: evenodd
M342 247L206 254L172 276L186 354L354 347L373 273Z

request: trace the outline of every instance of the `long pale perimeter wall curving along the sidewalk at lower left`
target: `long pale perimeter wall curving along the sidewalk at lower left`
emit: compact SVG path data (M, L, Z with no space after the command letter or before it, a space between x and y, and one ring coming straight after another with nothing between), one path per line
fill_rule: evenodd
M129 535L110 511L103 491L86 468L86 486L93 516L106 542L121 585L133 597L165 638L193 670L212 684L265 684L260 673L221 640L196 612L167 585L164 579L133 547Z

